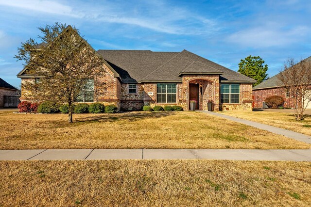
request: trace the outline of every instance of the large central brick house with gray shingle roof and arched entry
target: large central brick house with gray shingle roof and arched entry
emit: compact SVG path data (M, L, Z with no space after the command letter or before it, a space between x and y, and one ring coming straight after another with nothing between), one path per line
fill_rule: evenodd
M45 46L40 44L38 49ZM196 100L197 109L207 110L207 101L212 100L215 111L252 110L255 80L187 50L97 53L104 59L105 74L90 80L93 87L83 91L79 102L115 104L119 110L140 110L144 105L180 105L189 110L190 100ZM24 89L23 83L35 81L36 77L25 68L17 77L22 82L20 100L27 100L25 94L31 92Z

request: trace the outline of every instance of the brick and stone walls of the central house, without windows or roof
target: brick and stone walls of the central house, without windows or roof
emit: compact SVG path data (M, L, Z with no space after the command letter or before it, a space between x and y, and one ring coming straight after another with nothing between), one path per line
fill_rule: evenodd
M189 84L197 83L202 87L202 94L199 93L199 109L207 110L207 101L213 101L213 110L249 110L252 102L252 84L241 84L241 104L226 105L225 108L220 104L220 83L219 75L184 75L182 82L176 83L176 104L157 103L155 82L137 83L135 94L128 93L128 84L121 83L118 78L114 78L112 71L106 67L104 74L94 80L94 102L102 102L105 105L114 104L118 110L132 111L141 110L144 105L154 107L155 105L179 105L185 111L189 110ZM27 100L25 97L31 95L31 92L25 89L25 81L34 81L34 79L22 79L22 97L21 101ZM200 90L199 87L199 90ZM201 92L201 90L200 90ZM29 100L31 101L31 100Z

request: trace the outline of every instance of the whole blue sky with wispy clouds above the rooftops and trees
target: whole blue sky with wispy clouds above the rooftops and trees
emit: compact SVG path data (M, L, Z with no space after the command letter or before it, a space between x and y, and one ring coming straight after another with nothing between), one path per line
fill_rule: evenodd
M38 27L75 25L97 49L187 49L238 70L262 57L269 76L288 58L311 56L310 0L0 0L0 78L14 86L14 55Z

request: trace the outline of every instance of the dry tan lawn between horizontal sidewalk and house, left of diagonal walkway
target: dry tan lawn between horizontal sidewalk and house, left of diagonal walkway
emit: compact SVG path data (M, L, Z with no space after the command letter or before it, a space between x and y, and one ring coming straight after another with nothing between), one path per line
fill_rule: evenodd
M74 115L0 111L1 149L242 148L306 149L302 143L202 112Z

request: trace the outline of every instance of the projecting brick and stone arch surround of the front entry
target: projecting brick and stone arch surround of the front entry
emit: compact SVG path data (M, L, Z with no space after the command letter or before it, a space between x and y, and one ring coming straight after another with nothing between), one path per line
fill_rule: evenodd
M182 83L182 106L185 111L189 110L189 84L198 83L202 85L202 95L199 96L199 109L207 110L207 101L213 101L213 110L219 110L219 75L186 75ZM200 90L200 89L199 89Z

